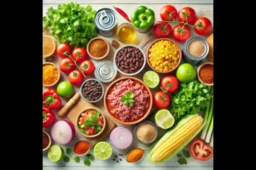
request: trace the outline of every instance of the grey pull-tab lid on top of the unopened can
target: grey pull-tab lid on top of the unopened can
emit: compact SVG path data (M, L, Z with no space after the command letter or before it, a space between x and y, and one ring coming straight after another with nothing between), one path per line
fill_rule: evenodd
M102 8L96 12L94 22L101 30L111 30L117 22L117 16L110 8Z

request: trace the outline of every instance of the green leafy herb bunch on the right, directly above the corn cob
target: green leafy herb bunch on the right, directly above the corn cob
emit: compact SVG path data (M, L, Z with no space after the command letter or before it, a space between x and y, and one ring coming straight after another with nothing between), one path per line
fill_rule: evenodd
M179 122L183 117L199 113L203 110L211 98L210 89L197 80L182 83L181 89L172 98L171 113L175 122Z

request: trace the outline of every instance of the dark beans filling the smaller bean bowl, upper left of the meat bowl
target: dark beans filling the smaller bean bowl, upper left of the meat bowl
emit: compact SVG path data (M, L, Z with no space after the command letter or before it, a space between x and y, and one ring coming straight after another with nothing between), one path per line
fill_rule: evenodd
M96 102L102 98L102 84L96 80L88 80L82 85L81 93L83 94L84 99Z

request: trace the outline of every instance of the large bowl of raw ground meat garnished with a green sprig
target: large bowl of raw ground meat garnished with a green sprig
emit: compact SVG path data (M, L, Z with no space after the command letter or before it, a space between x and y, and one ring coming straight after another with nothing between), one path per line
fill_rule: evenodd
M104 94L104 107L113 121L124 125L142 122L151 111L152 94L136 77L121 77L112 82Z

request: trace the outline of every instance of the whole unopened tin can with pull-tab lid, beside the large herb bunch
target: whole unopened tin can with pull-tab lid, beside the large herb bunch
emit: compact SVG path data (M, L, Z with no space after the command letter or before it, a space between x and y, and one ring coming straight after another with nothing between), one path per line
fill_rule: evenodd
M95 14L94 24L103 37L112 37L117 31L117 15L110 8L101 8Z

